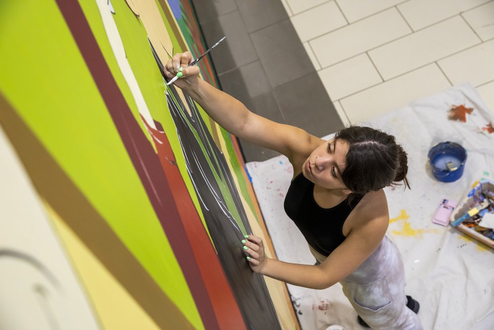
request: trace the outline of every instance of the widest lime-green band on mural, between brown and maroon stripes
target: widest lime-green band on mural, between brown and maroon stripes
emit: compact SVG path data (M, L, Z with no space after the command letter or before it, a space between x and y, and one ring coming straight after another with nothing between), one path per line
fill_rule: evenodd
M0 11L1 93L180 311L197 329L204 329L163 229L58 7L53 1L2 1ZM90 21L95 19L94 9L86 13ZM130 34L137 33L132 30ZM109 51L108 45L102 48ZM149 78L155 72L141 75ZM153 99L164 99L161 109L168 112L164 97ZM132 109L136 111L135 105Z

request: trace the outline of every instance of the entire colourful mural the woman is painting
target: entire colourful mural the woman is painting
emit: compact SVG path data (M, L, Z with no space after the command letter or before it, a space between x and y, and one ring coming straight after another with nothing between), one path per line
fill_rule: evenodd
M298 328L242 252L270 240L235 139L165 85L205 49L190 2L0 10L0 271L24 290L0 280L0 328Z

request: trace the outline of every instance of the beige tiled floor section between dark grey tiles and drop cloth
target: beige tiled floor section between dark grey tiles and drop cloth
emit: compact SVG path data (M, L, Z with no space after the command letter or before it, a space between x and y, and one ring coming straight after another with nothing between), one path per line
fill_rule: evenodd
M345 124L466 82L494 110L494 1L282 2Z

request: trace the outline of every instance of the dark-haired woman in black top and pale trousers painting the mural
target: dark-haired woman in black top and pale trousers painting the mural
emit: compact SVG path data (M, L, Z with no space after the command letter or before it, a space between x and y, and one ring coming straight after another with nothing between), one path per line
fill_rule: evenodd
M393 136L351 126L324 141L302 129L275 123L198 78L187 65L190 52L176 54L165 75L231 134L286 155L293 179L285 210L309 244L316 265L265 257L263 242L247 236L244 250L252 271L314 289L341 283L372 329L422 329L418 302L406 296L400 253L385 235L389 223L383 188L407 181L407 154Z

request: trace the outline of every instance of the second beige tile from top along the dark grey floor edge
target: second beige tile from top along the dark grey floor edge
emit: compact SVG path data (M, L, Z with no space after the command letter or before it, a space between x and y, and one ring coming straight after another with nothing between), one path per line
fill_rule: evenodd
M343 14L334 1L293 15L290 19L302 42L347 25Z

